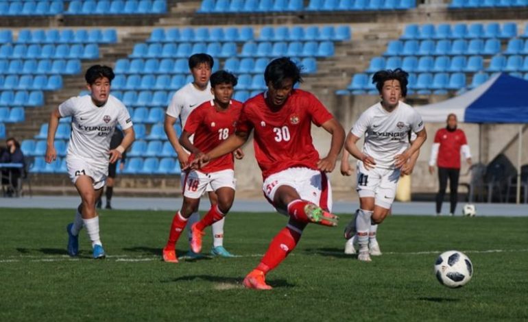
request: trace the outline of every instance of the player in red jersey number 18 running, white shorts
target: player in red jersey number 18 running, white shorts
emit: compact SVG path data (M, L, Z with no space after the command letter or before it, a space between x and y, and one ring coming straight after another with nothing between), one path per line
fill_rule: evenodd
M236 85L237 78L231 73L217 71L211 75L211 92L215 98L202 103L189 114L180 137L182 147L191 152L189 160L200 158L203 153L211 151L235 132L235 124L242 109L241 102L231 99ZM194 135L193 143L189 139L192 135ZM235 156L241 157L241 154L235 153ZM218 202L211 206L201 221L191 227L193 236L191 249L195 253L200 253L205 227L223 219L235 199L234 168L233 155L228 154L208 162L200 170L187 170L184 173L183 204L172 219L169 240L163 248L165 262L178 262L176 241L187 225L189 216L197 212L200 196L210 184L218 197Z

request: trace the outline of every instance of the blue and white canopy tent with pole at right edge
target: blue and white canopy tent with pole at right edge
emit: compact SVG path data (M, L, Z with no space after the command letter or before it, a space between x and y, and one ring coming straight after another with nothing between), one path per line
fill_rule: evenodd
M496 124L517 123L517 203L520 201L520 163L523 124L528 123L528 81L505 73L497 74L477 88L446 101L418 106L425 122L443 123L455 113L460 122Z

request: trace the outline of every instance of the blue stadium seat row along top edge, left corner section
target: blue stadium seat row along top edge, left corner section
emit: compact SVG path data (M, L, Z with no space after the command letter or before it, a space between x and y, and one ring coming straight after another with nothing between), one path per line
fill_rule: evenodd
M163 14L165 0L0 1L0 16Z

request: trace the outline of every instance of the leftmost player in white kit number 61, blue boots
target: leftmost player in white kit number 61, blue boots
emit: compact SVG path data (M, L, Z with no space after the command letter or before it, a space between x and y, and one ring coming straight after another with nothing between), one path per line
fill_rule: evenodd
M104 258L99 237L99 216L95 203L101 197L108 163L121 159L123 152L134 141L134 128L130 114L119 99L110 95L110 83L115 75L108 66L91 66L84 75L90 95L71 97L51 112L49 118L46 162L56 160L54 140L61 117L71 116L71 137L66 156L66 165L71 182L77 188L81 204L73 223L67 225L68 253L79 253L79 232L86 227L92 242L93 258ZM110 138L117 124L125 136L115 149L110 149Z

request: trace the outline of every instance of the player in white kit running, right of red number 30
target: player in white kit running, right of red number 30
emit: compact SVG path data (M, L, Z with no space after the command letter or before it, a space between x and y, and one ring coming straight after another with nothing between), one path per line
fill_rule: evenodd
M381 102L359 116L346 138L345 149L358 160L359 209L345 228L344 235L347 240L356 235L359 244L357 258L365 262L371 261L369 235L374 232L375 236L377 225L389 214L398 179L402 174L411 173L418 151L427 138L420 114L401 101L407 95L408 76L401 69L375 73L372 82L381 95ZM411 132L416 138L409 146ZM365 142L361 151L356 143L363 135ZM372 255L381 254L377 242L371 242L371 248L374 250Z

